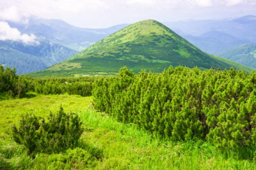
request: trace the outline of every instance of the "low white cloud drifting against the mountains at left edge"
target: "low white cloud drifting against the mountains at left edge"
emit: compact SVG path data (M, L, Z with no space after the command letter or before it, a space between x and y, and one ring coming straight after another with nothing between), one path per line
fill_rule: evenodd
M27 45L38 45L34 34L21 34L16 28L10 27L7 22L0 22L0 40L19 41Z

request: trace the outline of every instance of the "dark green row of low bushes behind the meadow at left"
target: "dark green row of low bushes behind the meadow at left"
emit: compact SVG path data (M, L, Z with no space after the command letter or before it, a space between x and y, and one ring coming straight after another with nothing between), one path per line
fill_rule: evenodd
M37 94L77 94L92 96L96 77L50 77L30 78L16 74L15 68L0 65L0 94L10 97L24 97L26 92Z

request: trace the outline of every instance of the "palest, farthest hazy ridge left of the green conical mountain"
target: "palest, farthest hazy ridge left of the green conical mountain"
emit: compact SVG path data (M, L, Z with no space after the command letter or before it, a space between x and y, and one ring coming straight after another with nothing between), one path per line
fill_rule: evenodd
M39 39L72 48L76 51L92 45L128 24L115 25L106 29L86 29L75 27L62 20L30 17L27 23L8 22L11 27L26 34L35 34Z

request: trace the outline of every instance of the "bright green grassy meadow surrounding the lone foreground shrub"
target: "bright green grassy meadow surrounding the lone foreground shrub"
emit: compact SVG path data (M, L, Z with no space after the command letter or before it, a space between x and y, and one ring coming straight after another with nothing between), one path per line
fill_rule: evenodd
M1 139L0 167L13 169L60 169L70 162L61 162L63 154L37 155L35 160L27 157L24 149L13 143L10 127L20 115L34 112L46 116L56 111L60 104L65 111L77 111L87 130L82 141L88 146L102 150L102 159L94 160L92 169L255 169L255 162L225 157L214 146L203 141L172 143L152 139L147 132L116 122L115 118L97 113L90 106L92 97L37 96L31 99L0 101ZM78 165L79 166L79 165ZM77 169L83 169L79 166ZM1 168L0 168L1 169Z

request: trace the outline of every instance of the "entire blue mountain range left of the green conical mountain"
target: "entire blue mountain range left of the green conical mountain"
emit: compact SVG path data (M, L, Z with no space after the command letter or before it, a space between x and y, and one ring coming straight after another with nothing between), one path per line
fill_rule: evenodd
M39 45L18 41L0 41L0 64L15 67L18 74L40 71L67 60L93 43L127 24L107 29L82 29L61 20L29 18L27 23L8 22L21 34L34 34Z

